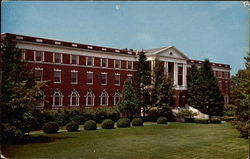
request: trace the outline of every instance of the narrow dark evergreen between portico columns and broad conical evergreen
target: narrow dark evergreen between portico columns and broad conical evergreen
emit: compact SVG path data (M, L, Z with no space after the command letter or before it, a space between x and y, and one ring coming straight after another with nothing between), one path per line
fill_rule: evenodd
M187 103L197 109L199 109L199 101L196 97L199 89L199 81L199 70L196 65L192 65L187 75Z

